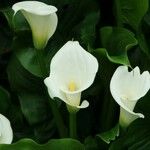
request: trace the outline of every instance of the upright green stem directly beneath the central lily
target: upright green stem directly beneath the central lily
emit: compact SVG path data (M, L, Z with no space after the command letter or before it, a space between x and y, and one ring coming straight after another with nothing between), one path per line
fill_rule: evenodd
M77 129L76 129L76 113L69 113L69 128L70 128L70 137L77 138Z

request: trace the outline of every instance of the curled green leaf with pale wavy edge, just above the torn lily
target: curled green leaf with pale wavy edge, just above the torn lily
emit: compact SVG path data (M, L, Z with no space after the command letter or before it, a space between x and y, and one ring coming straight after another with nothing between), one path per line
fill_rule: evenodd
M100 37L105 49L97 49L99 54L105 54L111 62L130 66L127 51L137 45L132 32L125 28L103 27Z

